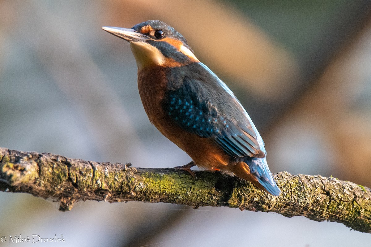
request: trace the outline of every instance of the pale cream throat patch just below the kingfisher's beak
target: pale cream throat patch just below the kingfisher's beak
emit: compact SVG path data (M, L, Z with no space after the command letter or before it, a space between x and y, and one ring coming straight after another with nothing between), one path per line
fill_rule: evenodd
M148 43L130 42L130 48L137 61L138 70L147 66L161 66L165 63L165 56L161 51Z

